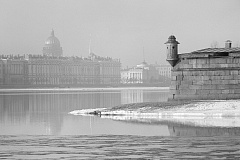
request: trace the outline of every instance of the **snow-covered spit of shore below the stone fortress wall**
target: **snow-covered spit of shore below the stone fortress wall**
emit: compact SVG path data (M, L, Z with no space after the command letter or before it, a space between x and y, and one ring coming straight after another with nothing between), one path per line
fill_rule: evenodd
M199 101L172 109L109 110L106 108L72 111L88 115L96 111L101 118L122 121L171 121L195 126L240 127L240 100Z

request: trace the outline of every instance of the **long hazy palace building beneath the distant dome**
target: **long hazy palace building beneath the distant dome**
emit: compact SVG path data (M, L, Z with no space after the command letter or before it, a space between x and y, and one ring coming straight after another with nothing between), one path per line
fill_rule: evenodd
M41 55L0 56L1 86L118 85L118 59L92 54L89 58Z

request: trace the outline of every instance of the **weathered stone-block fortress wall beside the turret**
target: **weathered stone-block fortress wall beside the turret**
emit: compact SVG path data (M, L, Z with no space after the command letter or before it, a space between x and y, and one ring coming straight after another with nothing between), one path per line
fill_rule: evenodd
M240 98L240 53L179 54L169 100Z

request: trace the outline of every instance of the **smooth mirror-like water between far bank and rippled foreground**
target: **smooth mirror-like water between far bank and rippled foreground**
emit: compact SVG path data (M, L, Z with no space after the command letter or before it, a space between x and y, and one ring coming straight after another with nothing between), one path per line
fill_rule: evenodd
M159 122L154 119L124 119L121 122L98 117L68 115L86 108L109 108L126 103L166 101L163 90L125 89L65 93L0 95L0 134L139 134L170 136L240 136L239 127L197 126L188 123ZM116 120L116 119L115 119ZM221 121L219 119L218 121ZM238 119L227 119L228 123ZM183 120L182 120L183 121ZM181 121L181 122L182 122ZM213 121L203 120L211 124ZM122 124L128 122L128 124ZM193 121L191 121L193 122ZM222 120L226 123L226 120ZM153 124L155 124L153 126ZM124 130L122 128L125 128ZM164 131L160 131L164 130ZM168 130L168 133L166 131ZM160 133L161 132L161 133Z

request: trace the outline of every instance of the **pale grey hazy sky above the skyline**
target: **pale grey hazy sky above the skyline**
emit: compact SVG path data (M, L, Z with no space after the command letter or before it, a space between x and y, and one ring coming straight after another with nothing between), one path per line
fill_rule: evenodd
M42 54L53 28L65 56L120 58L122 66L166 63L165 42L179 52L226 40L240 44L240 0L0 0L0 54Z

